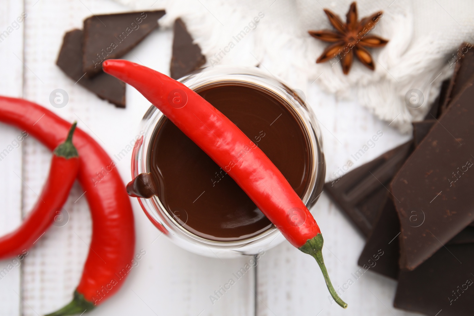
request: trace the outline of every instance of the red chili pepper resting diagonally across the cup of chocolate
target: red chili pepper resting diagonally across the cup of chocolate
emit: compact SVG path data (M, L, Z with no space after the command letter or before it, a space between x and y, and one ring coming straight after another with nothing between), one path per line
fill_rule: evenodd
M126 60L103 70L135 87L227 172L285 238L319 264L329 292L342 307L322 257L323 237L308 208L268 157L234 123L182 83Z

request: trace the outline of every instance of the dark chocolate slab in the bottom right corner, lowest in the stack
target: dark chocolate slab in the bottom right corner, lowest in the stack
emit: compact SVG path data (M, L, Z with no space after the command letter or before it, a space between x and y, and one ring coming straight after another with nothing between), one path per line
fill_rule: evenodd
M474 244L446 245L414 271L400 272L393 305L426 315L472 316L473 266Z

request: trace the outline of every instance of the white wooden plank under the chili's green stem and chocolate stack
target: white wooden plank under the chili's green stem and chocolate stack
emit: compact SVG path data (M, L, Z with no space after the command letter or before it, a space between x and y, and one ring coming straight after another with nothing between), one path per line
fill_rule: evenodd
M410 137L400 135L356 102L337 101L315 85L310 86L308 91L307 101L319 119L323 136L327 180L334 178L332 172L337 172L348 160L354 163L352 168L356 168ZM351 153L356 153L379 130L383 136L355 161ZM360 269L357 260L365 244L364 238L325 193L322 193L311 213L324 236L323 256L332 283L336 290L339 286L348 288L341 295L349 305L348 310L334 302L331 304L315 260L284 241L267 251L259 264L257 316L415 315L393 307L395 281L370 271L358 279L353 276ZM350 286L349 279L354 282Z

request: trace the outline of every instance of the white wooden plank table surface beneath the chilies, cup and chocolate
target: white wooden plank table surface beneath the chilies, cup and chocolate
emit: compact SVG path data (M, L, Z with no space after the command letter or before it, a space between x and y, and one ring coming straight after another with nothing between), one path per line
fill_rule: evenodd
M22 12L27 18L0 43L0 94L37 102L91 134L110 155L120 152L138 132L138 123L149 106L136 90L127 87L127 108L118 109L100 100L67 78L55 65L64 32L82 28L92 13L126 11L110 0L0 0L0 32ZM156 30L126 59L169 72L172 32ZM64 89L69 103L54 108L52 90ZM316 84L307 88L307 100L322 123L328 176L351 159L365 142L383 131L383 137L355 166L401 144L400 135L374 118L356 102L341 102L320 92ZM21 131L0 124L0 151ZM130 153L129 153L130 155ZM0 162L0 234L19 225L35 203L48 172L51 153L33 137L27 137ZM125 182L130 180L130 156L118 163ZM65 209L63 227L52 226L29 251L21 265L0 280L0 315L43 315L72 298L82 273L91 238L89 209L76 183ZM310 256L283 242L267 251L256 268L237 281L219 301L210 295L228 282L250 258L220 260L184 251L172 244L146 219L132 199L137 228L137 252L146 255L134 268L117 295L91 315L172 316L336 316L410 315L392 307L396 282L367 272L349 287L342 298L343 310L330 304L318 265ZM337 288L359 269L357 259L363 237L325 193L311 209L325 237L323 253L332 282ZM159 236L159 237L158 237ZM11 260L0 261L0 269Z

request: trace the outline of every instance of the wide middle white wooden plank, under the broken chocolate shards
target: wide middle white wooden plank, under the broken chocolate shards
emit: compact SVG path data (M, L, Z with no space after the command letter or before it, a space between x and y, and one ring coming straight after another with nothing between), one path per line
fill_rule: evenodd
M82 27L82 20L94 14L126 11L111 1L39 2L27 0L31 8L25 31L25 97L69 121L78 120L82 129L94 137L113 156L138 134L141 117L149 102L136 90L127 88L126 109L118 109L67 78L55 65L64 32ZM33 7L34 5L34 7ZM54 19L54 22L52 21ZM161 72L169 72L171 31L157 30L126 58L144 63ZM69 103L64 108L49 104L52 90L63 89ZM117 162L124 181L130 181L130 154ZM49 168L51 154L36 140L26 144L24 171L32 190L41 190ZM36 243L25 260L23 276L24 315L42 315L62 307L72 298L79 282L91 238L91 219L82 189L75 185L65 209L69 222L53 226ZM76 199L79 199L77 202ZM32 192L25 192L24 208L36 201ZM254 315L254 270L236 281L215 304L209 296L228 282L232 273L243 267L249 258L220 260L206 258L178 248L146 219L133 199L137 227L136 252L146 251L139 265L117 295L98 307L94 315ZM156 239L156 240L155 240ZM200 314L201 313L201 314Z

